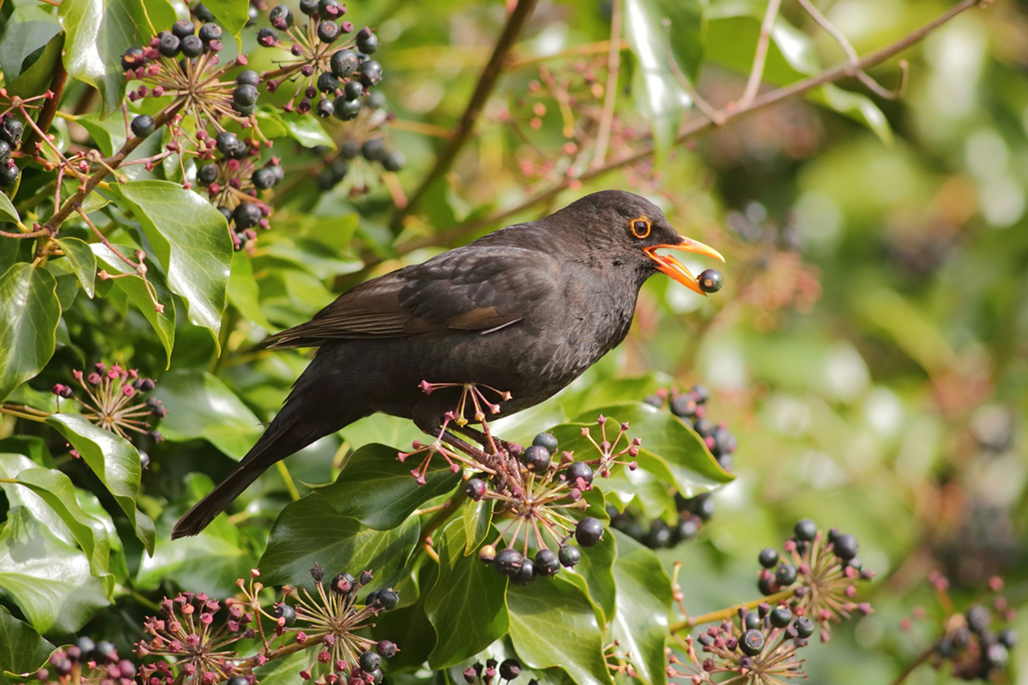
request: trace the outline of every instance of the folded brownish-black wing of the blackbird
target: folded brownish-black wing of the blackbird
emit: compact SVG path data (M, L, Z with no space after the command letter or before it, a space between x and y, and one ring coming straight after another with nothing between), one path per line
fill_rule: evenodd
M559 263L536 250L468 246L342 294L270 348L345 338L406 337L450 330L489 333L520 321L556 287Z

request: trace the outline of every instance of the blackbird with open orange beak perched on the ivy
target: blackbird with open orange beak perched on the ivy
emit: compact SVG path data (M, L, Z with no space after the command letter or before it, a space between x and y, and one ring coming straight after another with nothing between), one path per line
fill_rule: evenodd
M269 348L319 349L264 434L172 538L199 533L279 460L376 411L438 435L461 389L427 394L423 382L509 392L500 416L553 396L624 339L657 272L706 295L665 248L724 261L648 200L603 190L343 293L270 336Z

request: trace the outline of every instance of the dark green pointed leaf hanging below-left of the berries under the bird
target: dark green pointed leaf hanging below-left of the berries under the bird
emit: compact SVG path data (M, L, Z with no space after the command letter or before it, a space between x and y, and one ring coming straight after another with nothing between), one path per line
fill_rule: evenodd
M439 576L425 598L425 613L436 632L429 655L433 669L464 661L510 627L504 602L507 579L477 556L465 555L468 541L461 520L450 521L440 536Z

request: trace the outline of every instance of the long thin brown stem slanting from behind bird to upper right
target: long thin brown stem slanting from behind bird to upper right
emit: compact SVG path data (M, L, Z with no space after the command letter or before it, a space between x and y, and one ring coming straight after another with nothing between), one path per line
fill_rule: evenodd
M766 109L768 107L771 107L772 105L777 105L786 100L799 98L800 96L803 96L821 85L825 85L827 83L834 83L836 81L847 78L852 73L852 69L854 68L869 69L878 64L881 64L882 62L885 62L889 58L894 57L898 52L902 52L903 50L907 49L911 45L920 42L921 40L924 39L925 36L927 36L929 33L938 29L943 24L946 24L947 22L952 20L957 14L967 9L970 9L976 5L981 5L984 7L990 3L991 0L961 0L961 2L951 7L945 13L940 14L931 22L928 22L927 24L921 26L915 31L912 31L911 33L907 34L900 40L879 49L878 51L872 52L871 55L861 58L855 64L847 62L835 67L831 67L829 69L825 69L819 74L810 76L809 78L805 78L801 81L797 81L796 83L792 83L790 85L776 88L774 91L770 91L768 93L765 93L764 95L755 98L754 101L749 103L746 107L735 108L731 110L721 110L723 116L723 123L741 119L748 114L752 114L754 112ZM685 127L682 128L674 142L675 144L684 143L698 136L707 134L717 128L719 128L719 124L706 117L703 117L702 119L696 119L690 123L687 123ZM608 174L612 171L621 169L622 167L627 167L629 165L636 164L653 155L653 152L654 152L654 147L652 144L645 145L635 152L613 159L603 165L602 167L598 167L596 169L589 169L585 171L581 176L579 176L578 180L588 181L597 178L599 176L602 176L604 174ZM497 212L493 212L487 216L453 226L448 230L444 230L435 233L433 236L415 238L406 241L404 243L401 243L400 245L397 246L396 250L397 254L405 255L409 254L410 252L413 252L414 250L419 250L424 247L433 245L445 245L455 240L460 240L461 238L464 238L465 236L481 230L486 226L494 225L503 221L504 219L520 214L521 212L524 212L525 210L530 209L536 205L553 200L560 193L560 191L566 188L567 185L568 185L568 180L562 179L553 186L540 190L539 192L526 197L525 200L523 200L522 202L513 207L503 210L498 210ZM365 268L369 268L380 262L381 262L380 257L371 254L366 255Z

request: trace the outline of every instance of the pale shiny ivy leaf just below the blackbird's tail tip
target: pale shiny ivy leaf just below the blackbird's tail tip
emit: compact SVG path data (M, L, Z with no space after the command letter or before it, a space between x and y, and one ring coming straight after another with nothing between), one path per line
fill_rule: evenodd
M199 535L171 539L172 527L179 516L213 489L214 481L207 475L190 473L186 476L187 497L161 513L160 535L153 556L144 554L140 561L135 580L137 588L154 590L171 580L182 588L203 587L215 597L235 592L235 579L244 577L257 560L247 549L240 530L228 516L216 516Z

